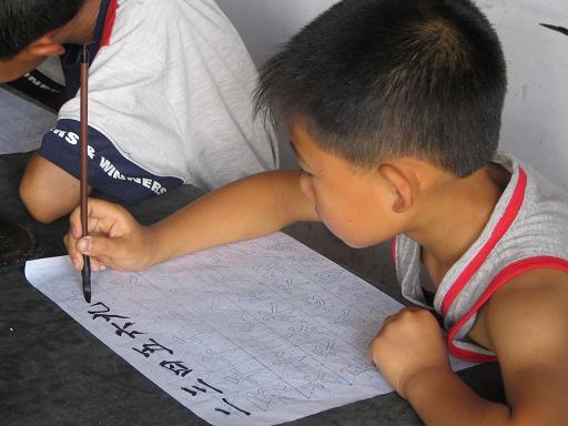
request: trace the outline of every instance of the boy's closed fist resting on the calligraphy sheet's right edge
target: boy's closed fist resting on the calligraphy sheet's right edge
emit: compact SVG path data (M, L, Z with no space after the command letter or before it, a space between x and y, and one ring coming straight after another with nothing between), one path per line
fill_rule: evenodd
M405 307L386 318L371 343L369 354L381 373L404 398L405 389L420 373L433 369L452 372L438 322L426 310Z

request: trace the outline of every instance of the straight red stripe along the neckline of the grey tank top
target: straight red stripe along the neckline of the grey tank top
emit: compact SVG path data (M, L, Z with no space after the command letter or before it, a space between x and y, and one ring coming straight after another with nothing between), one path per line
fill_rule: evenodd
M485 262L487 256L491 253L491 250L497 245L497 243L503 239L506 232L509 230L510 225L517 217L519 213L520 206L523 205L523 201L525 200L525 190L527 187L527 174L523 169L519 168L519 178L517 181L517 186L515 187L515 192L505 209L505 213L503 217L499 220L495 230L493 231L491 236L481 247L481 250L477 253L477 255L469 262L469 264L464 268L462 274L448 290L444 300L442 301L442 314L445 316L449 306L454 303L458 294L464 290L467 282L471 278L471 276L479 270L481 264Z

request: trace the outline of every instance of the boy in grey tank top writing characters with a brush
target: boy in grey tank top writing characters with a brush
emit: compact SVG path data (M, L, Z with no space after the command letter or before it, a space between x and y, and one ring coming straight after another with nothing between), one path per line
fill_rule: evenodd
M290 129L301 171L225 186L143 227L93 201L67 245L75 267L141 270L322 221L354 247L395 235L403 294L371 356L428 425L568 418L568 196L497 153L506 70L468 0L345 0L264 68L258 108ZM434 300L428 302L428 292ZM500 363L508 405L481 399L450 351Z

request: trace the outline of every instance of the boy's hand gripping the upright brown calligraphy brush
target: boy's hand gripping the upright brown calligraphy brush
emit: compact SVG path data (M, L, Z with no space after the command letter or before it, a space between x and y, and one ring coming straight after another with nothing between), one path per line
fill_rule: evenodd
M81 211L70 216L71 229L64 243L74 267L83 267L83 254L91 256L93 271L106 266L118 271L140 271L151 265L151 229L140 225L122 206L89 200L89 235L81 237Z

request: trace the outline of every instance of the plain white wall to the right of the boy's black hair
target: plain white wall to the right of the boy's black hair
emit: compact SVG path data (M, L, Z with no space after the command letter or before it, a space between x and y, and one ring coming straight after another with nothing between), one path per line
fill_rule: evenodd
M568 189L567 0L479 0L501 39L509 89L501 146Z

